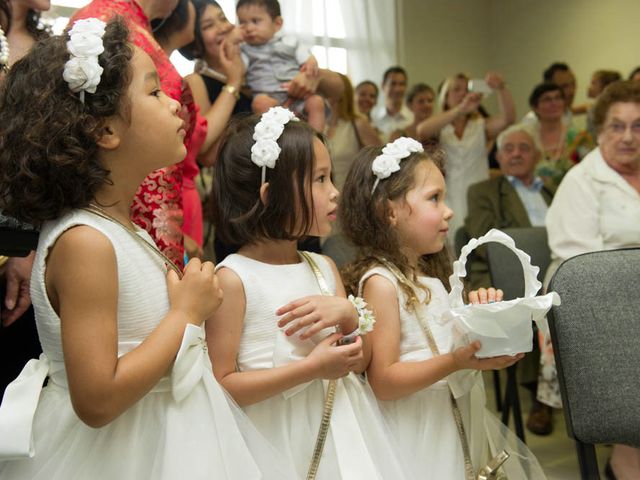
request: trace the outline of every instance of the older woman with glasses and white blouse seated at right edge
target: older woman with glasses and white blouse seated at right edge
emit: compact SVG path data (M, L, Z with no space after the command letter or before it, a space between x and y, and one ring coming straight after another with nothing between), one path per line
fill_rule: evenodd
M640 82L616 82L594 108L598 148L560 183L547 213L552 264L546 283L567 258L596 250L640 247ZM538 399L560 407L550 345L542 352ZM610 472L640 478L640 454L616 445Z

